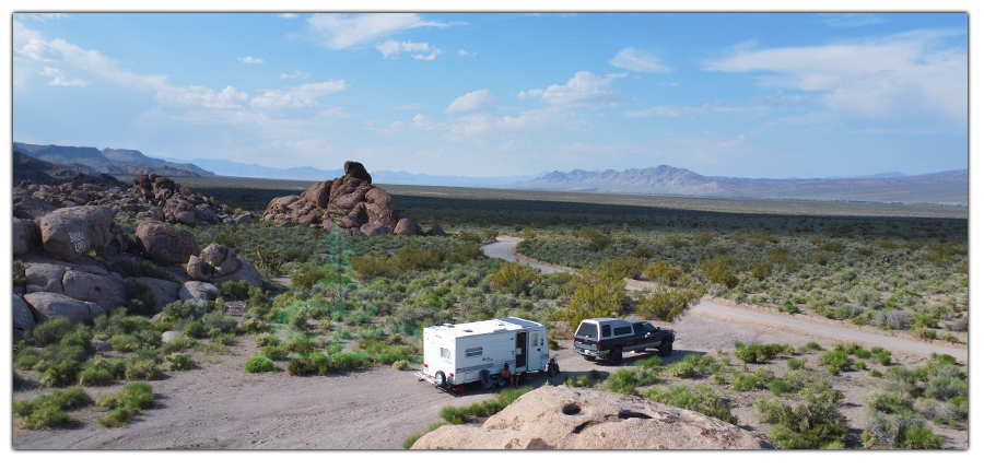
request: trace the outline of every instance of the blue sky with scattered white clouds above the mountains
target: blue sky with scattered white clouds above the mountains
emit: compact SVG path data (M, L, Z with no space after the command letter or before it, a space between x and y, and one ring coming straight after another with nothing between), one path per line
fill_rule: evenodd
M968 167L968 15L13 14L13 140L434 175Z

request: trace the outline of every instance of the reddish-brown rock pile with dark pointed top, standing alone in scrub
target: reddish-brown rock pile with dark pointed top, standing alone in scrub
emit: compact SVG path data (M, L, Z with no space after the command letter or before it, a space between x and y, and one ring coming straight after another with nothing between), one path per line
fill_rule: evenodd
M345 162L344 176L316 183L300 197L271 200L262 218L282 224L338 227L349 235L383 235L397 230L408 235L422 233L389 192L373 185L373 177L359 162Z

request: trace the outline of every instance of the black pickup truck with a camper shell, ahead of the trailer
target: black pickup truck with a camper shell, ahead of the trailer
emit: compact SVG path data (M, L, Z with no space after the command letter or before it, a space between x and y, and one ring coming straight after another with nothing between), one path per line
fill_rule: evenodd
M588 361L608 359L622 363L622 353L658 349L666 357L673 352L673 330L649 325L648 321L618 318L590 318L581 322L574 333L574 351Z

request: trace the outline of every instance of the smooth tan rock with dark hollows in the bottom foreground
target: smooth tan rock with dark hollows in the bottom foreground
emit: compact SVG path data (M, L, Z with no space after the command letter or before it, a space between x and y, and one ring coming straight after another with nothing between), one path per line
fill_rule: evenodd
M764 436L694 411L587 388L540 387L481 426L447 425L413 449L773 449Z

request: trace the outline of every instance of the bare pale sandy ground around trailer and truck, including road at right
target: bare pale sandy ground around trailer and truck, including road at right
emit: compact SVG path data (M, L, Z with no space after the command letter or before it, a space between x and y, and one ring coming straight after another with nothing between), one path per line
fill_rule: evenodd
M512 248L511 246L512 245ZM487 245L490 256L508 257L515 242ZM515 256L515 255L512 255ZM507 258L508 259L508 258ZM558 267L560 269L560 267ZM666 325L668 326L668 325ZM822 318L789 316L739 308L716 302L702 302L682 320L677 330L675 352L667 362L686 354L714 354L721 357L734 349L735 341L745 343L789 343L817 341L825 346L835 342L857 341L866 346L882 345L894 353L895 361L915 365L925 361L929 351L945 352L967 364L967 348L928 344L906 338L886 336ZM558 357L563 381L566 375L584 375L596 369L607 375L619 367L588 362L575 354L571 341L561 341ZM200 368L169 374L153 381L155 406L126 427L102 428L96 425L101 412L73 412L81 422L73 428L28 431L13 427L14 449L398 449L414 433L426 432L440 421L438 411L448 404L464 406L489 398L479 387L470 387L462 396L452 395L426 383L412 372L379 367L331 377L292 377L285 371L272 374L248 374L243 364L258 353L250 338L243 338L226 354L195 353ZM632 365L648 354L628 354L622 365ZM733 361L736 364L737 361ZM815 364L811 359L809 364ZM419 366L419 365L418 365ZM776 375L785 374L785 361L769 365ZM740 366L739 366L740 367ZM872 364L874 368L881 368ZM750 372L754 371L754 366ZM30 373L25 374L30 378ZM530 374L527 385L547 381L543 374ZM845 392L842 412L855 434L864 428L864 397L874 387L866 372L850 372L835 379ZM694 380L670 380L666 384L693 385ZM121 386L87 388L93 397L116 392ZM14 400L37 396L44 390L14 393ZM725 392L733 399L733 413L742 427L764 434L768 426L758 424L752 403L769 392ZM967 448L967 430L935 428L947 439L947 447Z

